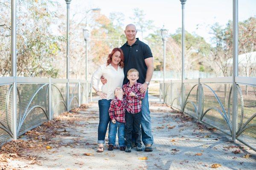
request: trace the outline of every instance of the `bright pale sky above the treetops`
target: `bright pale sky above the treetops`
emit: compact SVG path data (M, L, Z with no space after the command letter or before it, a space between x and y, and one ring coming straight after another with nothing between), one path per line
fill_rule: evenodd
M122 12L125 24L132 23L129 17L133 16L134 8L139 8L145 12L146 19L153 20L154 26L159 29L164 24L169 33L175 33L181 27L180 0L72 0L70 12L84 13L96 7L107 16L111 12ZM209 42L209 26L215 22L224 25L232 20L232 9L233 0L187 0L185 29L205 37ZM252 16L256 16L256 0L239 0L239 20ZM140 37L140 33L137 36Z

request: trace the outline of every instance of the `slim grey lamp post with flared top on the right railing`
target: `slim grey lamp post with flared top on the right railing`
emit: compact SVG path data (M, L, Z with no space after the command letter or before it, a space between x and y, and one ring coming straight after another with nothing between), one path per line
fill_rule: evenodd
M183 110L184 106L184 90L183 90L183 81L184 81L184 65L185 65L185 27L184 27L184 9L185 9L185 3L186 0L180 0L181 2L181 8L182 8L182 69L181 69L181 109Z

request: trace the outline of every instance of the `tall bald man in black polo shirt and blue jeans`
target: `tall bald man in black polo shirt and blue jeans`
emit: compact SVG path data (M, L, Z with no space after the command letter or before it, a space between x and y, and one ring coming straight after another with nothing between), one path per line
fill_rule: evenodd
M151 131L151 118L148 104L148 85L153 75L154 61L151 49L147 44L140 41L139 38L136 38L136 34L136 26L133 24L128 24L125 27L127 42L121 47L125 56L125 79L123 84L128 83L127 72L129 69L137 69L139 71L140 77L137 82L143 84L140 88L140 92L146 92L145 98L142 100L141 110L142 141L145 145L145 151L151 152L154 139ZM101 81L103 84L107 83L107 80L103 77Z

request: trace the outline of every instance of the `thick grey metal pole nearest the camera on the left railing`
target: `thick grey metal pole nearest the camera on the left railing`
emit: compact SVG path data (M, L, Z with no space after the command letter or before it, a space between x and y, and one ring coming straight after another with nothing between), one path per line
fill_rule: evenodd
M12 133L13 139L17 140L17 56L16 56L16 0L12 0L11 5L11 62L12 77L14 83L12 85Z

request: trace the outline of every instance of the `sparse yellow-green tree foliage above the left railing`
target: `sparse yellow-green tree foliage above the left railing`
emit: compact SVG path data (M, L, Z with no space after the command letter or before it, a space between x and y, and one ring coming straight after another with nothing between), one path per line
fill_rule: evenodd
M6 1L6 0L5 0ZM10 5L9 2L4 4ZM53 68L53 60L57 58L60 52L60 43L64 41L63 36L55 36L50 33L49 27L52 17L55 16L49 10L50 6L58 3L52 0L19 0L17 9L17 75L18 76L36 76L53 77L58 76L58 69ZM0 4L1 6L2 4ZM1 6L3 11L8 13L8 8ZM29 18L28 18L29 16ZM6 25L10 16L3 16L0 20ZM9 27L2 27L0 30L1 41L8 40L10 37ZM9 41L10 42L10 41ZM2 50L10 50L10 43L7 43ZM10 53L0 57L1 74L9 75L11 70ZM2 67L3 66L3 67Z

